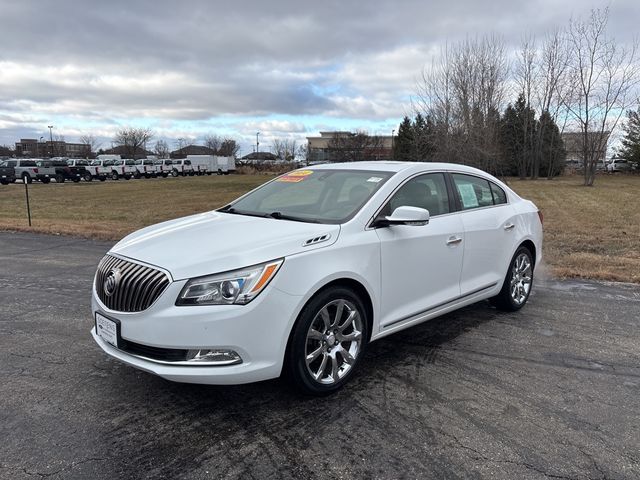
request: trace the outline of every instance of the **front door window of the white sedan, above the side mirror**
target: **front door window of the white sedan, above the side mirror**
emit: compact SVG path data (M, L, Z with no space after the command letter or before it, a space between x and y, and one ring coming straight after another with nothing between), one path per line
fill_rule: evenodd
M443 173L429 173L412 178L391 197L382 209L382 216L389 216L398 207L419 207L429 211L429 216L449 213L449 195Z

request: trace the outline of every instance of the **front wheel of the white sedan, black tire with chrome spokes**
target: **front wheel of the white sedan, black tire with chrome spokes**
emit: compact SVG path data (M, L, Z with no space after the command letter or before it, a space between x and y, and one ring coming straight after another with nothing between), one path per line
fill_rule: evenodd
M323 321L323 310L330 324ZM357 315L348 321L354 310ZM284 374L304 394L329 395L352 377L368 339L369 324L362 300L350 288L329 287L316 294L300 312L289 339ZM317 355L307 364L307 358L314 353ZM312 371L319 377L314 377Z

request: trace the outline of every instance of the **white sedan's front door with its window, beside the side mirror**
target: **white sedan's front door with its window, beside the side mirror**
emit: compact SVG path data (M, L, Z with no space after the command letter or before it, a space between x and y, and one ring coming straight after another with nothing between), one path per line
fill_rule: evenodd
M452 213L444 173L408 180L380 216L401 206L429 210L429 223L376 229L381 250L381 329L425 313L460 296L464 229Z

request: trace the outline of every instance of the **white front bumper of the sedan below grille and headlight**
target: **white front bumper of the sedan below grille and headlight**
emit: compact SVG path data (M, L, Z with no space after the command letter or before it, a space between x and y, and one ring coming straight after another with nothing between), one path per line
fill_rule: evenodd
M113 312L97 297L92 311L120 322L123 340L166 349L219 348L237 352L242 363L226 366L171 365L127 353L91 334L108 355L128 365L172 381L203 384L241 384L280 375L289 332L302 297L269 285L247 305L175 306L186 280L171 283L148 309L138 313Z

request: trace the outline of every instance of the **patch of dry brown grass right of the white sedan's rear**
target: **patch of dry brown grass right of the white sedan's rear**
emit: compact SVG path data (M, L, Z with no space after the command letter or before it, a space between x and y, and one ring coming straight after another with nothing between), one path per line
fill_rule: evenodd
M544 214L544 260L557 277L640 283L640 177L510 180Z

